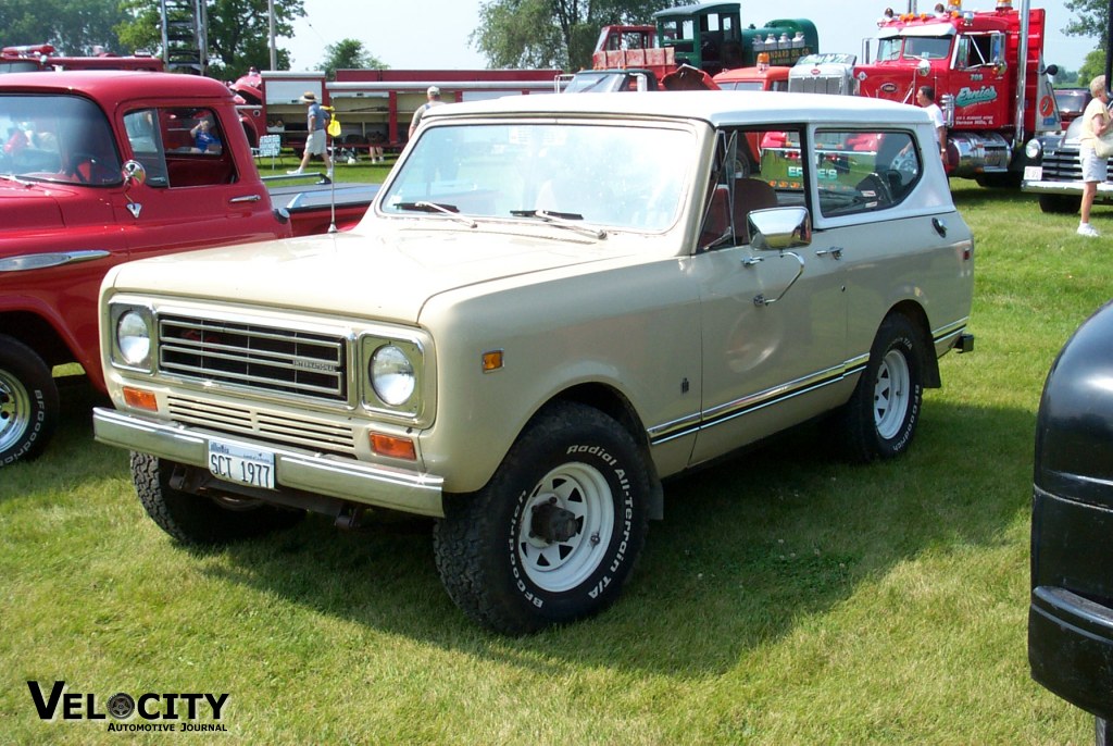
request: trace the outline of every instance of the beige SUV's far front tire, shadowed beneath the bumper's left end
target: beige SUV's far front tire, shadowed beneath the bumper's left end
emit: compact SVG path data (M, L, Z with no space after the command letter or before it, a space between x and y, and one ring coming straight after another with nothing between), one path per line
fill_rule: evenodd
M147 453L131 453L131 481L147 514L187 544L221 544L289 528L305 511L258 500L210 498L170 487L175 464Z

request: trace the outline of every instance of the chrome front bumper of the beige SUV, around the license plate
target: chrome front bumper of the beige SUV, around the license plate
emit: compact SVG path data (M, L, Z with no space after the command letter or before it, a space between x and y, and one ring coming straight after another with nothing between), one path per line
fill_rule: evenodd
M210 435L198 428L148 420L104 408L93 410L92 428L96 439L102 443L199 469L208 469L210 438L243 448L265 448L275 455L276 482L283 488L420 516L444 516L444 479L433 474L290 448L260 445L224 434ZM266 499L265 494L260 497Z

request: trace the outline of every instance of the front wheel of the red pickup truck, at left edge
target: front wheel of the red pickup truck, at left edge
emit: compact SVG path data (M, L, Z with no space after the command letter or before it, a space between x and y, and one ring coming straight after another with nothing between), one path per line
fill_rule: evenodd
M0 334L0 467L42 453L57 422L50 367L26 344Z

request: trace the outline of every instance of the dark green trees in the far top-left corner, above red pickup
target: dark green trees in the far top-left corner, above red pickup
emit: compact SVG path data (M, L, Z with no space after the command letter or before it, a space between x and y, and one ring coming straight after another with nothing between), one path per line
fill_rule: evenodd
M116 2L104 0L3 0L0 29L4 46L51 43L63 55L91 55L96 47L130 53L115 27L124 20Z

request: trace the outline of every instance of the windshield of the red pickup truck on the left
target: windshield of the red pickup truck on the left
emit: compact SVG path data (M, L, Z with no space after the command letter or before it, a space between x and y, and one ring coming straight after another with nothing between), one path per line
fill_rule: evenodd
M101 110L77 96L0 96L0 175L119 184L120 157Z

